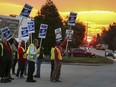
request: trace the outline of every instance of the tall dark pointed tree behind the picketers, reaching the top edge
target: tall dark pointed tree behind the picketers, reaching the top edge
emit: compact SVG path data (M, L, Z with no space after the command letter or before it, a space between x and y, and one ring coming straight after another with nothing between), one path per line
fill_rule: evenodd
M35 29L37 32L39 31L41 23L48 25L46 38L43 40L42 45L45 49L45 53L49 54L51 47L56 43L54 31L63 26L58 9L51 0L46 1L45 5L40 9L40 12L38 12L38 16L35 17Z

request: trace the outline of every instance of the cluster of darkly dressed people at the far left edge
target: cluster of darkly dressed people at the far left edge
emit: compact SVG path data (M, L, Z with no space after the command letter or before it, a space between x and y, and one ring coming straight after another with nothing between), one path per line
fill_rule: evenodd
M12 69L14 74L16 65L17 46L14 46L14 44L14 39L7 41L5 38L2 38L0 41L0 82L3 83L11 82L14 79L10 73Z

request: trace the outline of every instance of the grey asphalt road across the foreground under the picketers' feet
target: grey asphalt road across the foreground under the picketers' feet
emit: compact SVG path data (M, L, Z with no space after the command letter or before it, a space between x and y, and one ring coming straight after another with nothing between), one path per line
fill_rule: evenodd
M21 79L13 75L11 83L0 83L0 87L116 87L115 61L106 65L63 64L61 72L62 82L51 82L50 64L43 63L36 83L27 83L26 76Z

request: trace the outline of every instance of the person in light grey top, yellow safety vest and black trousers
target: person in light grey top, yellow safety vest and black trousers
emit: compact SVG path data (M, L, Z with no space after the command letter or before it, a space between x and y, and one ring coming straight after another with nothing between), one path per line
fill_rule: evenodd
M36 80L33 79L33 73L35 71L35 62L37 60L37 50L38 46L38 39L34 39L33 43L29 45L27 49L27 60L28 60L28 76L26 82L36 82Z

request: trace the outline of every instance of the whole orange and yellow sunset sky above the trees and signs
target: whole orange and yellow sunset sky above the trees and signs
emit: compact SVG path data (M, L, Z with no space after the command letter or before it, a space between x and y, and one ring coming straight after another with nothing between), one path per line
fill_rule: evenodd
M101 32L102 27L116 22L116 0L52 0L62 17L77 12L77 20L88 23L89 34ZM33 6L35 16L46 0L0 0L0 15L19 15L24 4Z

